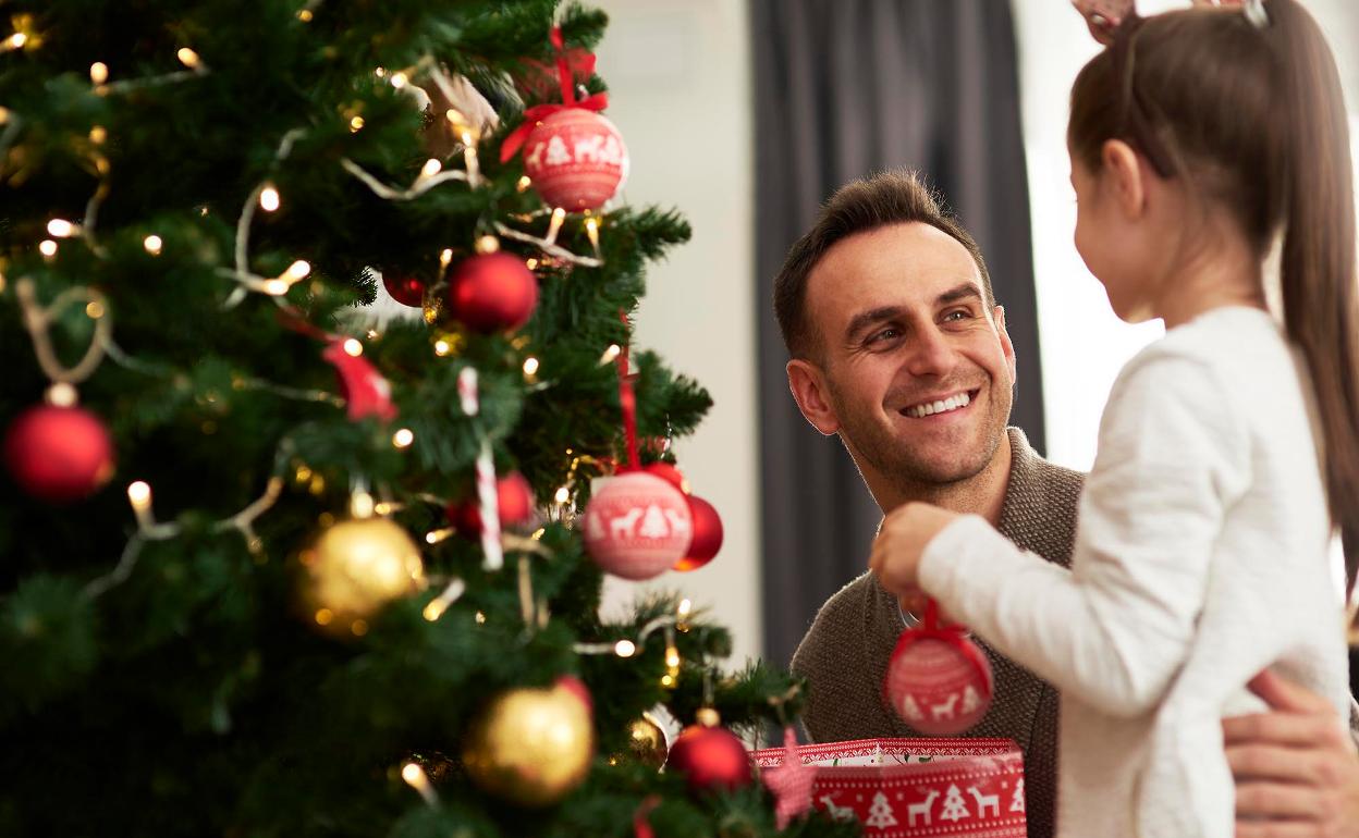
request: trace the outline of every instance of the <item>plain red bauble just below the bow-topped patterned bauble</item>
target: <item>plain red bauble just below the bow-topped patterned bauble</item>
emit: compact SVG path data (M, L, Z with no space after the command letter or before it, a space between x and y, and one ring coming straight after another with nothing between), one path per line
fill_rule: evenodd
M538 278L514 254L467 257L448 280L448 304L453 316L474 331L514 331L533 316Z

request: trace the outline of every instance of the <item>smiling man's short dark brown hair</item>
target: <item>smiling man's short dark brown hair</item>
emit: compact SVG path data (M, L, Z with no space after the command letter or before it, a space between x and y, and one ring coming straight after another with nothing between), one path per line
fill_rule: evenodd
M991 274L981 249L958 221L946 215L934 193L915 171L896 168L845 183L821 208L815 225L788 251L773 281L773 311L788 354L798 359L818 354L818 335L807 316L807 277L836 242L890 224L930 224L968 249L977 262L987 306L996 304Z

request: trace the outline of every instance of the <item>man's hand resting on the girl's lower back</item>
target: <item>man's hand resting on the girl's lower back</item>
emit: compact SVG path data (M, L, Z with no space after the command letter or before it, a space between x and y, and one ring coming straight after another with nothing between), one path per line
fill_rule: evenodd
M1237 838L1359 837L1359 755L1321 695L1261 672L1269 712L1224 718L1237 780Z

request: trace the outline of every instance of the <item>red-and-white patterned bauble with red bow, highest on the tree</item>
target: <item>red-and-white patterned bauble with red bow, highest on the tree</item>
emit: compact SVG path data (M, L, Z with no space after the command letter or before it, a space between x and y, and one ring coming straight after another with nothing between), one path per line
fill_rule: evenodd
M609 120L567 107L529 134L523 171L548 206L599 209L628 177L628 147Z

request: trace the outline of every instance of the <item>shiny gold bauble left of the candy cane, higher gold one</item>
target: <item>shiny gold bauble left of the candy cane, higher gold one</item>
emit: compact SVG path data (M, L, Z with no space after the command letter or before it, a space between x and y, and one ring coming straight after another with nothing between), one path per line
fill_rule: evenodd
M385 517L356 517L326 527L303 550L303 602L310 619L336 634L360 636L378 608L420 589L424 565L406 531Z

